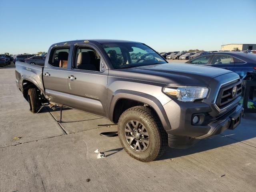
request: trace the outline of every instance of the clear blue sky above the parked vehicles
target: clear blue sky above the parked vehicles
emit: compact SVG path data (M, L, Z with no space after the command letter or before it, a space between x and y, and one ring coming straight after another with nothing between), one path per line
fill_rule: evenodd
M2 0L0 54L56 42L123 39L157 51L256 44L256 0Z

